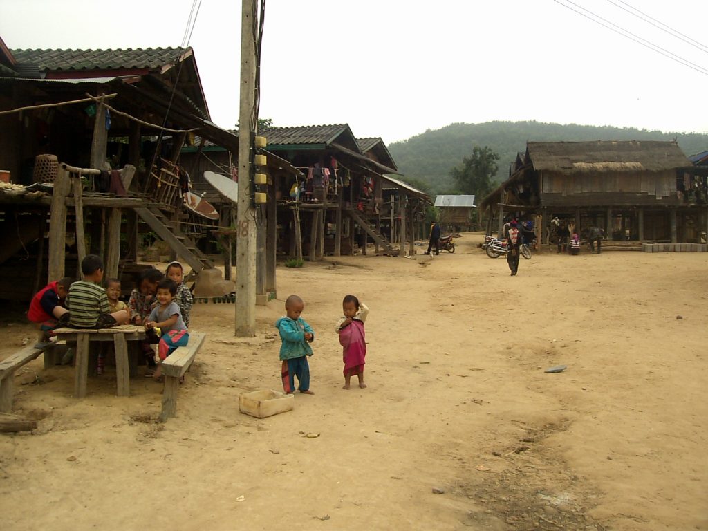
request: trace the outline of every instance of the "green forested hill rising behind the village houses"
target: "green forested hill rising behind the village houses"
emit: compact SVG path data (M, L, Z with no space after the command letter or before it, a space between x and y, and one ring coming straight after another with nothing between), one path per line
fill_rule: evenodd
M509 163L526 142L577 142L582 140L673 140L688 156L708 149L708 135L646 131L634 128L560 125L543 122L454 123L438 130L427 130L388 148L399 171L411 184L427 183L430 193L454 192L450 169L462 164L462 157L472 154L475 144L489 146L499 155L495 181L508 177ZM421 183L422 185L422 183Z

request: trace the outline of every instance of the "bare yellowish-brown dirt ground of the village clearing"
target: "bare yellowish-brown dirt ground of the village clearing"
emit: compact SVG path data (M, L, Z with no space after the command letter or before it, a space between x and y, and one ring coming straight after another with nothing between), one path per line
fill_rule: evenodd
M708 254L544 253L511 278L480 238L278 268L256 338L196 304L207 341L164 424L152 380L116 397L109 367L77 401L71 367L26 365L15 412L39 427L0 434L3 529L708 530ZM245 416L239 394L280 389L292 293L316 394ZM371 309L367 389L341 388L347 293ZM35 337L1 331L0 358Z

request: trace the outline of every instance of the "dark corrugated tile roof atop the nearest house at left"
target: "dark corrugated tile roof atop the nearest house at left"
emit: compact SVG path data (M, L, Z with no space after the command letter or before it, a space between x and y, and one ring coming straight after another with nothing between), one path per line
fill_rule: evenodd
M40 72L56 70L157 69L191 55L191 48L127 50L11 50L18 64L34 64Z

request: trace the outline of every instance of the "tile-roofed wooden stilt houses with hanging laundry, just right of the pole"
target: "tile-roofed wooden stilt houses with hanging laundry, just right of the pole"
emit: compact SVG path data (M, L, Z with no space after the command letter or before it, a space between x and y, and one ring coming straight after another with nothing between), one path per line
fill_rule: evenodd
M348 125L271 127L268 151L302 171L274 182L285 231L280 253L309 256L413 252L428 196L391 174L396 166L381 139L356 139ZM389 190L385 192L384 190ZM289 220L289 221L285 221Z

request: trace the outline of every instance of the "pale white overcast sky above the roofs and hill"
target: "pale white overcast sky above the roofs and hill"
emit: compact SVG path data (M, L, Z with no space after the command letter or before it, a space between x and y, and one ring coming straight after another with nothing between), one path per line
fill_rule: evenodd
M385 142L489 120L708 132L707 1L572 2L266 0L261 118L348 123L357 137ZM0 0L0 36L11 49L178 47L192 6ZM590 16L580 6L694 66L570 9ZM238 121L240 20L239 0L202 0L189 42L212 119L224 128Z

